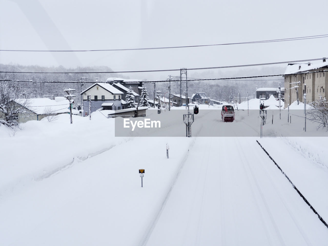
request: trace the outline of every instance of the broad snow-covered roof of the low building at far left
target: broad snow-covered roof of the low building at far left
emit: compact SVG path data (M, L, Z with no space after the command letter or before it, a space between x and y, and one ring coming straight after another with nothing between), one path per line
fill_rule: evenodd
M36 114L48 113L68 113L70 112L70 102L67 99L56 101L50 98L29 98L16 99L15 102L24 105L27 109Z

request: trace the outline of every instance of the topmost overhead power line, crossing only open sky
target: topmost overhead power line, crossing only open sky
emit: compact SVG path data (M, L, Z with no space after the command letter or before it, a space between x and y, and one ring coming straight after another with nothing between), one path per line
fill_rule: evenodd
M135 49L108 49L108 50L0 50L0 51L28 51L28 52L137 51L137 50L160 50L160 49L206 47L206 46L235 45L235 44L258 44L258 43L283 42L283 41L294 41L294 40L314 39L314 38L326 38L326 37L328 37L328 34L315 35L315 36L295 37L295 38L270 39L270 40L261 40L261 41L251 41L251 42L233 42L233 43L225 43L225 44L170 46L170 47L135 48Z

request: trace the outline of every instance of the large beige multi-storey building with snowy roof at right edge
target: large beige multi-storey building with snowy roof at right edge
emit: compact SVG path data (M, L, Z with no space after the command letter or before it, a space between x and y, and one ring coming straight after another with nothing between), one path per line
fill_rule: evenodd
M327 97L325 89L328 86L328 61L322 58L322 62L289 63L283 75L285 79L285 108L298 100L304 102L303 94L306 93L306 101L313 102L318 94Z

